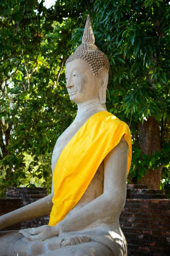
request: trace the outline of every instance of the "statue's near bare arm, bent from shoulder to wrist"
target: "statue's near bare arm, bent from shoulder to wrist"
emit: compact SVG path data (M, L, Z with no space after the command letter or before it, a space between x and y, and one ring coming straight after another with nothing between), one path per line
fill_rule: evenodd
M128 145L124 138L104 160L104 192L57 224L59 233L117 221L125 205Z

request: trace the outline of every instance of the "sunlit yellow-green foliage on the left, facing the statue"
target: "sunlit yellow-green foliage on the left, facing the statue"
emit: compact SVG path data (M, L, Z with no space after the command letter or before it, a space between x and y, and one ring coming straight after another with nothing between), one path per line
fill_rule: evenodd
M42 2L4 1L1 7L1 189L48 183L49 192L52 150L75 116L63 67L74 22L62 6L52 19L55 9Z

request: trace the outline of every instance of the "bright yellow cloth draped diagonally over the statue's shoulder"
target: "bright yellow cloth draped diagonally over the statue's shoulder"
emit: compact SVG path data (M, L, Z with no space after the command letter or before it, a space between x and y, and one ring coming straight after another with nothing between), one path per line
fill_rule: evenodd
M130 130L125 122L107 111L91 116L65 146L54 169L50 226L62 221L78 203L100 163L123 135L129 145L128 174L132 154Z

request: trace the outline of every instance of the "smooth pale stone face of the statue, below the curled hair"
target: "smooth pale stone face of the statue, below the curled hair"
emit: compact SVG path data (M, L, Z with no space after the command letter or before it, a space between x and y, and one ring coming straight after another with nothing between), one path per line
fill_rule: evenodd
M83 59L75 59L66 64L66 87L70 100L82 103L89 99L99 98L99 77L91 73L91 67Z

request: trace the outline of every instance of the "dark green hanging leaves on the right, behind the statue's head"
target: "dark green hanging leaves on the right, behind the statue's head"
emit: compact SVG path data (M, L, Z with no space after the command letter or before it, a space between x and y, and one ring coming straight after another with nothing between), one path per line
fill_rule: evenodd
M94 10L97 15L93 21L99 31L96 41L111 63L107 106L130 125L132 132L133 158L128 180L141 180L149 169L158 166L164 166L169 180L170 4L162 0L97 0ZM141 154L138 144L138 123L149 116L160 123L162 146L151 157Z

